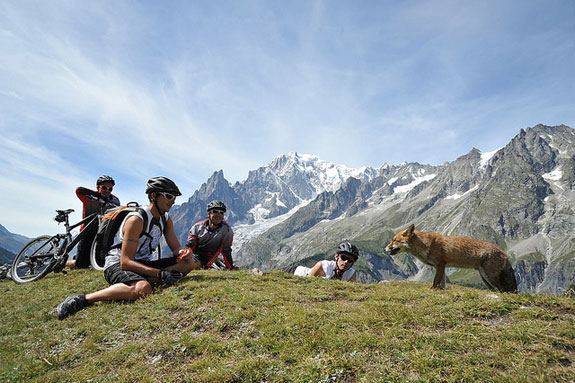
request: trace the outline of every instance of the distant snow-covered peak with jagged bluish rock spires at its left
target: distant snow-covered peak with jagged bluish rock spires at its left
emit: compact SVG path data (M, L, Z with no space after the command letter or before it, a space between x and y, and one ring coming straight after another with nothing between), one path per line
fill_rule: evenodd
M338 190L350 177L369 181L377 175L370 167L353 169L322 161L315 155L287 153L266 166L250 171L243 182L231 185L223 171L215 172L189 200L174 206L176 232L185 242L187 231L206 217L208 202L226 203L226 220L234 226L234 249L251 237L289 218L318 194Z

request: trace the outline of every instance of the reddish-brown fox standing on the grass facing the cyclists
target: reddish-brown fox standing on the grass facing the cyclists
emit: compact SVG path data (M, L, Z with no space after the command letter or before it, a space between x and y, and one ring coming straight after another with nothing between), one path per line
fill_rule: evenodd
M415 231L410 225L385 247L391 255L409 253L435 267L432 288L445 286L445 267L476 269L492 290L517 292L517 281L507 254L497 246L477 239L450 237Z

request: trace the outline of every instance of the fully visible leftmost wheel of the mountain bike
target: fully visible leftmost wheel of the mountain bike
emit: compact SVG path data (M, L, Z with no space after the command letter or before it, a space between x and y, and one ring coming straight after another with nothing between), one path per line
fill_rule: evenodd
M30 241L12 263L12 280L27 283L44 277L52 268L58 239L43 235Z

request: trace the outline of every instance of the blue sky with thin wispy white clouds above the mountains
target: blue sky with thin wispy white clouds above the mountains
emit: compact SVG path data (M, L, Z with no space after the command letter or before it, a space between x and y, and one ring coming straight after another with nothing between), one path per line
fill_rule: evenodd
M55 232L101 174L145 202L151 176L187 199L290 151L350 167L492 151L575 126L574 63L571 0L4 0L0 224Z

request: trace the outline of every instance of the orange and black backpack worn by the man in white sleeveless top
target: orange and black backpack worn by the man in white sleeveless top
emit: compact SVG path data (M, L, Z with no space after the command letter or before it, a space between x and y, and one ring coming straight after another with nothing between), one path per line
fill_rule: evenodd
M94 268L98 268L100 270L103 269L108 251L112 248L122 246L122 244L112 246L114 244L114 237L126 216L132 212L140 213L144 219L144 230L140 233L140 238L144 235L149 235L146 232L146 229L148 228L148 214L137 202L128 202L126 206L118 206L106 210L98 224L98 231L96 232L96 239L93 244L92 259L96 262L96 265L92 263Z

